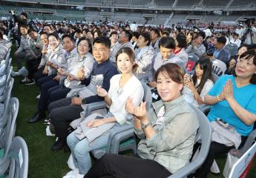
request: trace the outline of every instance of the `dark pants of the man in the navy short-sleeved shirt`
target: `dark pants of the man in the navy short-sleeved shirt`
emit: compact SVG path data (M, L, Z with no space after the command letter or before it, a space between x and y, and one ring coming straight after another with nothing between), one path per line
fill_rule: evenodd
M68 136L68 125L74 119L80 117L83 111L81 105L70 105L71 99L59 99L56 102L51 102L48 106L50 113L50 121L53 123L56 130L56 136L65 139Z

